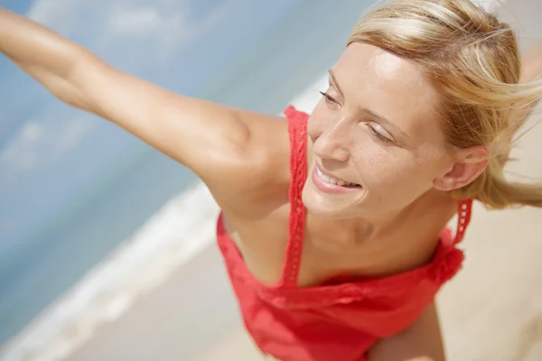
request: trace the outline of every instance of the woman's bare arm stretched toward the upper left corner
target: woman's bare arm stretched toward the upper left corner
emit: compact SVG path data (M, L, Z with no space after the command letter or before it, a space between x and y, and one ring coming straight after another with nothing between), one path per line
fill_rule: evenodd
M215 197L217 188L235 194L254 184L251 173L266 157L262 149L272 138L274 116L174 94L1 8L0 51L61 101L123 127L192 169Z

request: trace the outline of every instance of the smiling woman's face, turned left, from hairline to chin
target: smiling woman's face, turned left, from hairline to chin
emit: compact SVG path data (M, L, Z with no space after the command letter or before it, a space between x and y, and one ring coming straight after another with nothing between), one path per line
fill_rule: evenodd
M415 64L350 44L309 118L305 207L326 218L385 215L434 189L453 170L438 105Z

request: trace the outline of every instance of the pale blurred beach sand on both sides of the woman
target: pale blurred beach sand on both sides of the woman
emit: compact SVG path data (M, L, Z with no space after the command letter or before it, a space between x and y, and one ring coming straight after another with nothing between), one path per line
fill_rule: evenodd
M500 13L518 29L525 49L542 39L542 3L511 3ZM542 119L542 107L535 113L529 125ZM542 125L520 140L512 157L519 161L509 164L510 172L542 180ZM437 299L448 359L542 360L542 210L489 211L476 204L462 247L466 253L463 271L446 284ZM260 359L263 356L243 328L214 243L64 358Z

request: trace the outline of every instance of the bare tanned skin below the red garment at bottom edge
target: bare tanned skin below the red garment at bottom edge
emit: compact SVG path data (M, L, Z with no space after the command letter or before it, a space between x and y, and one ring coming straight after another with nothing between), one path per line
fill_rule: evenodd
M385 338L369 351L369 361L444 361L444 345L435 303L408 329Z

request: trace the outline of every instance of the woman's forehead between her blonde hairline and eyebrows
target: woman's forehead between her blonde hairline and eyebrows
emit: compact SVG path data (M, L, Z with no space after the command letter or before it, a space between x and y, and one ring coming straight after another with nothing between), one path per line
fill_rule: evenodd
M350 105L386 117L411 136L435 135L439 130L435 113L439 97L414 63L354 42L342 53L333 74Z

